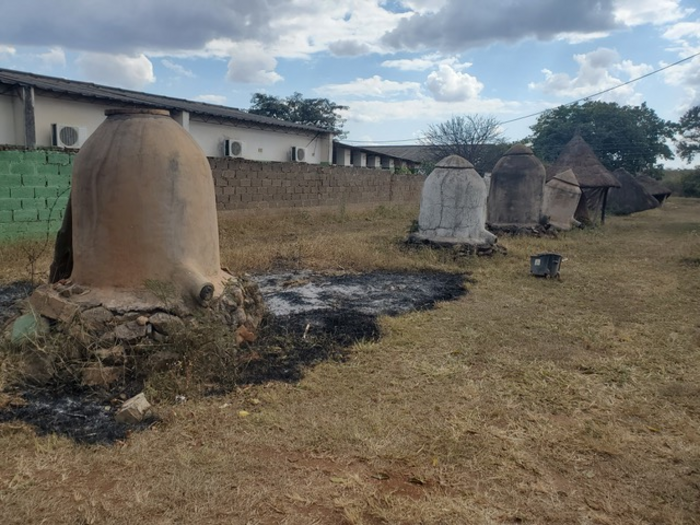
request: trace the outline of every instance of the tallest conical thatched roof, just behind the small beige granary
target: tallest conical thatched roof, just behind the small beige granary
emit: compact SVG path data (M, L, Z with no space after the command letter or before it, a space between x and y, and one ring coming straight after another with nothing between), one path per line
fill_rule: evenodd
M574 136L564 146L559 158L550 167L548 173L553 177L557 173L573 170L581 188L619 188L620 183L605 166L601 164L591 147L581 135Z

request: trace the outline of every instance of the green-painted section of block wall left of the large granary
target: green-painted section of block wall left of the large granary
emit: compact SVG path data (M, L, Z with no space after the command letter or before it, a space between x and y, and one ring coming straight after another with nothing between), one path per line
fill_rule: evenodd
M0 241L58 231L74 157L55 150L0 150Z

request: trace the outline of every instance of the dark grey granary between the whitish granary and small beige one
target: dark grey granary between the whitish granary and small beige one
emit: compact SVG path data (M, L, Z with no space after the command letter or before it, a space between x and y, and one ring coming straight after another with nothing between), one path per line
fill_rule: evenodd
M534 227L542 219L547 173L530 148L516 144L491 172L487 222L494 228Z

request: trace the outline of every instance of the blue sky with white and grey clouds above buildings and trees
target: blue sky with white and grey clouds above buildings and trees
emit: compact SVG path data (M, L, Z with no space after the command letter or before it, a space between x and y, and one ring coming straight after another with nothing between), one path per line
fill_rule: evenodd
M700 0L0 0L0 13L2 68L239 109L254 93L328 98L348 106L356 145L415 144L474 114L522 140L530 115L644 75L590 100L673 121L700 104L700 55L671 65L700 54Z

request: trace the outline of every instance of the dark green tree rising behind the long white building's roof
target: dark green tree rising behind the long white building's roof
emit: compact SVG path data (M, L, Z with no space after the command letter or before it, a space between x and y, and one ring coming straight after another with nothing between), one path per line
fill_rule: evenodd
M255 93L250 102L252 106L248 113L253 115L315 126L337 134L342 133L345 123L345 119L338 112L348 109L347 106L341 106L327 98L303 98L301 93L294 93L287 98Z

